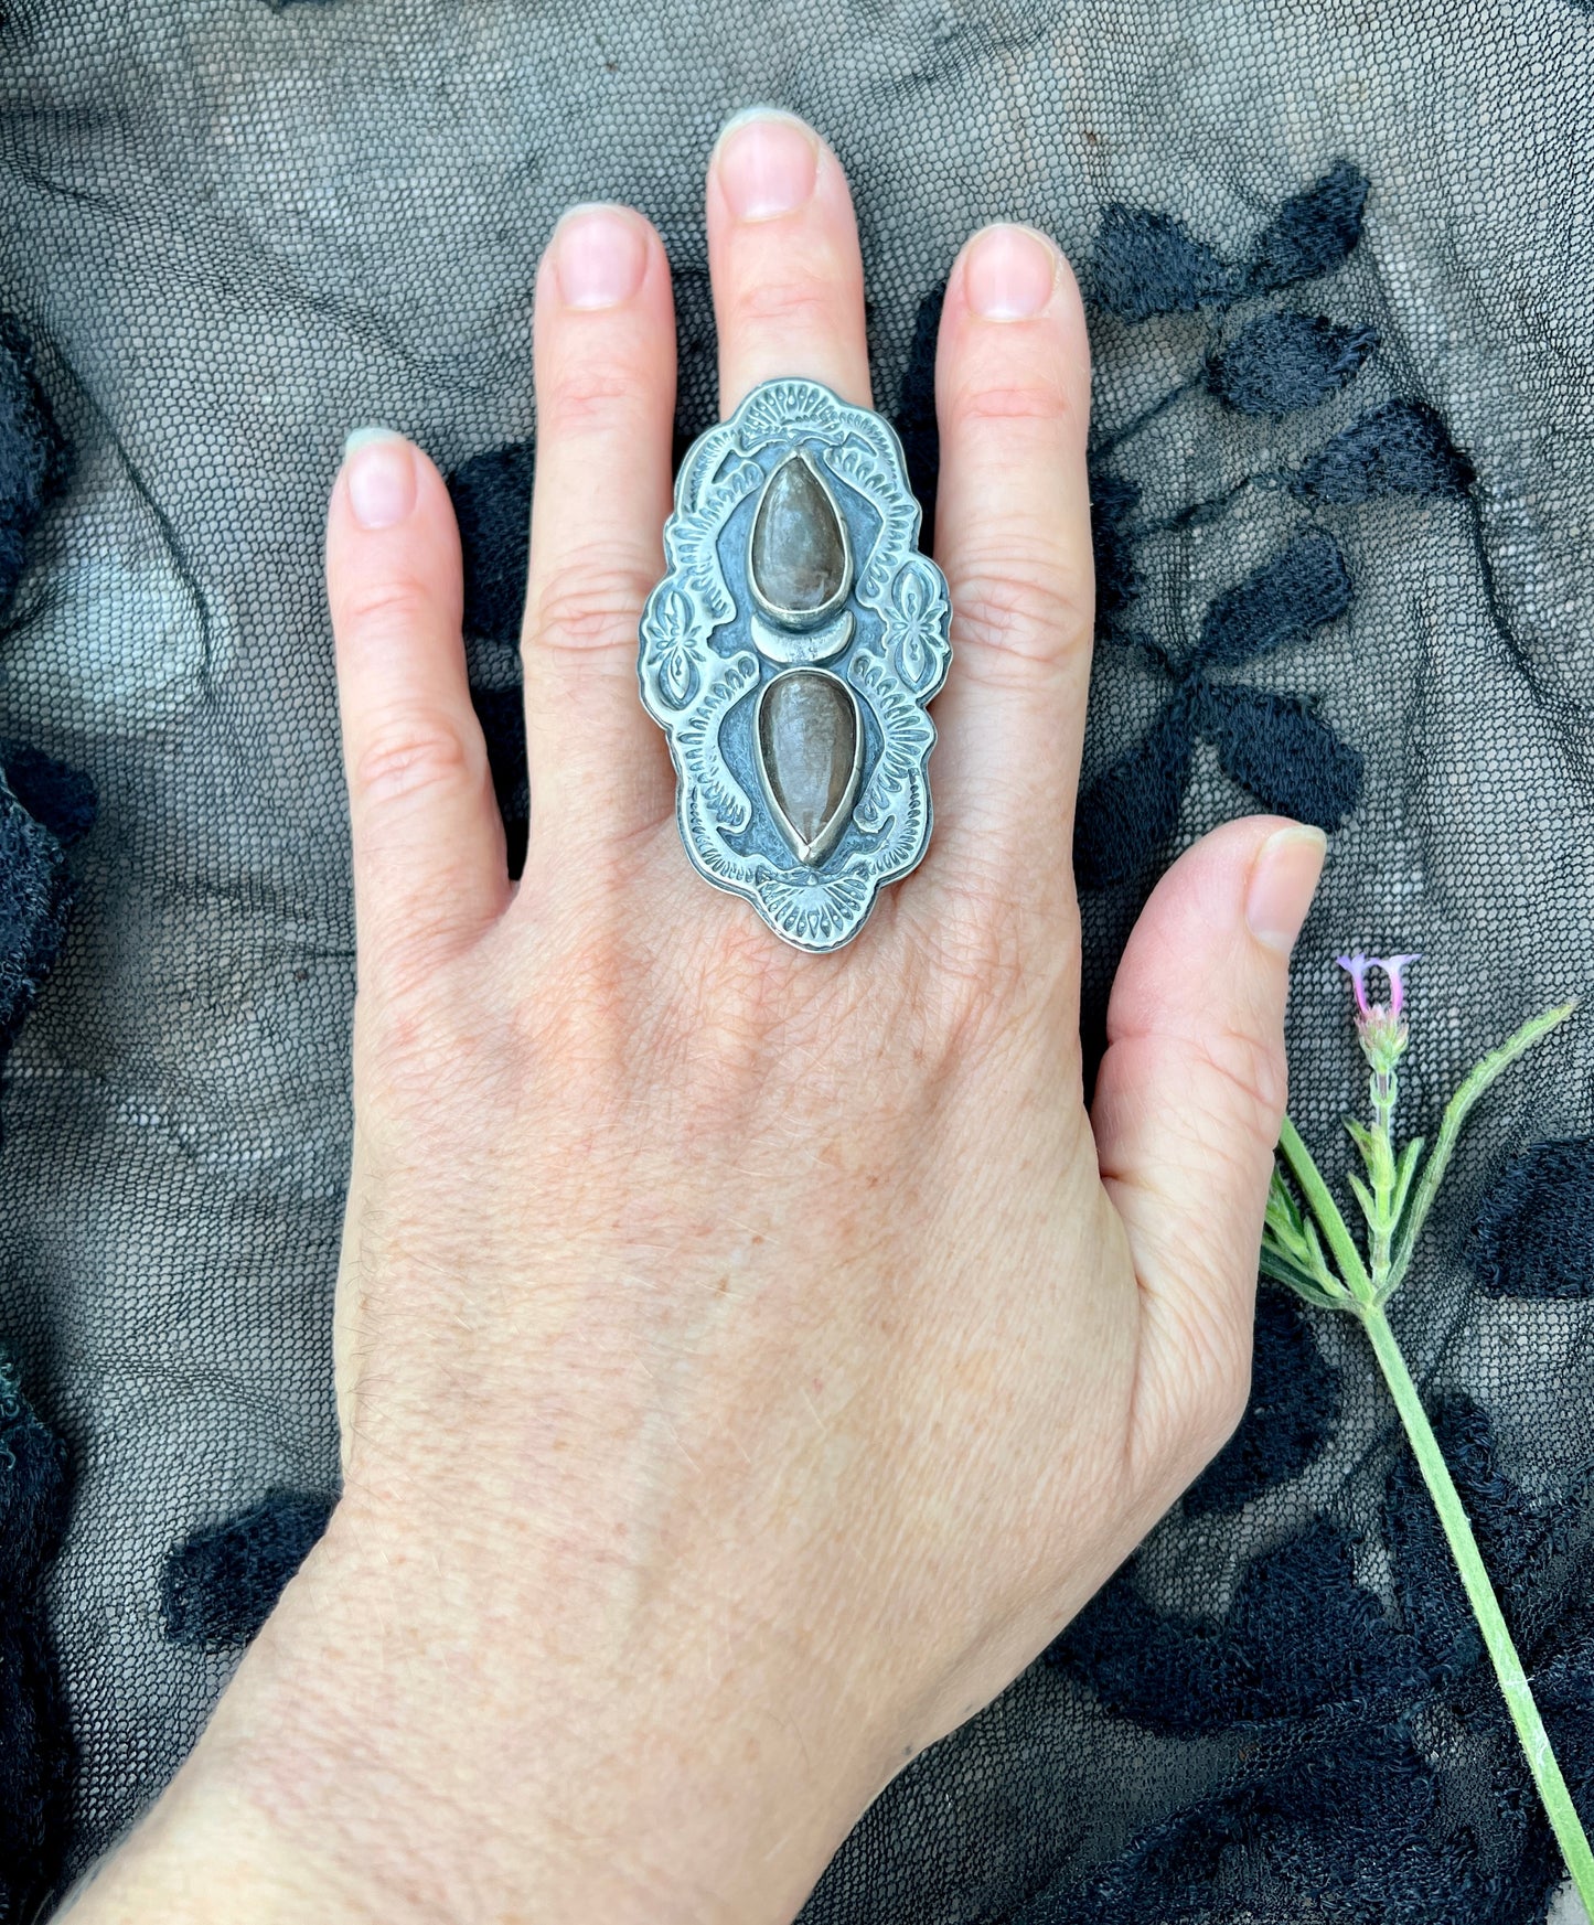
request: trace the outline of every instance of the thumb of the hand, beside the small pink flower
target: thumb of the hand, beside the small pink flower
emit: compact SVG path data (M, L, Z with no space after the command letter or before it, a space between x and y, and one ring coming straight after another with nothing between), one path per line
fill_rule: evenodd
M1324 847L1282 816L1213 830L1151 891L1107 1005L1092 1126L1142 1294L1132 1444L1180 1488L1246 1407L1290 949Z

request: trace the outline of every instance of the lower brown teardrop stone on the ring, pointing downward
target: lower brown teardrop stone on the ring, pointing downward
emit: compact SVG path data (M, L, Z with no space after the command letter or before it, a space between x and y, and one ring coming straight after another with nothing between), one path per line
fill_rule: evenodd
M758 703L758 764L776 824L799 862L822 862L841 837L859 785L853 691L814 668L766 683Z

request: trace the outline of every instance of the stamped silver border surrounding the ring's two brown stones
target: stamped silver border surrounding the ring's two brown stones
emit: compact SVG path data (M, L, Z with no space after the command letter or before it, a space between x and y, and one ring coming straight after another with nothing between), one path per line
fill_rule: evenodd
M745 543L720 537L774 468L799 450L828 487L839 481L857 491L878 518L872 535L861 531L847 522L841 491L830 489L857 568L847 610L857 620L843 653L828 651L836 654L828 672L857 697L866 718L859 741L870 733L872 753L851 816L812 866L789 851L762 783L749 793L720 741L732 710L785 668L758 647ZM664 524L666 572L641 618L641 699L670 743L676 818L693 866L714 887L753 903L797 949L824 953L851 941L880 889L914 868L930 841L926 764L936 726L924 705L951 664L951 606L941 570L918 552L918 527L920 508L891 424L820 381L782 377L755 387L728 420L693 441L676 475L676 504ZM768 834L758 834L757 814Z

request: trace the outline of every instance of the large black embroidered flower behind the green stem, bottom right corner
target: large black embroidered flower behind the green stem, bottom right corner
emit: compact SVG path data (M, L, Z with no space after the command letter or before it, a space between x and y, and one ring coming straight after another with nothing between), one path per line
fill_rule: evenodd
M1478 1403L1452 1398L1434 1424L1584 1804L1594 1792L1594 1609L1546 1611L1546 1602L1586 1596L1594 1465L1573 1465L1552 1492L1529 1496L1504 1473ZM1161 1615L1138 1586L1136 1557L1047 1648L1047 1665L1117 1715L1170 1738L1230 1734L1246 1767L1082 1885L1038 1892L1015 1925L1209 1925L1215 1890L1236 1875L1247 1879L1244 1915L1259 1925L1313 1906L1355 1925L1544 1917L1561 1875L1550 1827L1405 1451L1394 1455L1375 1528L1392 1611L1357 1577L1353 1540L1317 1519L1240 1573L1222 1619ZM1446 1777L1425 1736L1440 1729L1465 1732L1467 1746L1465 1769L1452 1758Z

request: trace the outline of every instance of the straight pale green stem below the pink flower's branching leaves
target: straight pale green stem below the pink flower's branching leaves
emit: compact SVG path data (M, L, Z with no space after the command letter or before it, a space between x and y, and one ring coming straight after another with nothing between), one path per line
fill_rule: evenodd
M1563 1011L1552 1011L1552 1014L1559 1020ZM1548 1028L1548 1022L1544 1026ZM1450 1122L1448 1116L1446 1122ZM1494 1596L1494 1586L1488 1580L1488 1571L1484 1571L1484 1561L1478 1553L1478 1540L1473 1536L1467 1511L1461 1507L1461 1494L1457 1492L1450 1467L1444 1461L1444 1453L1438 1448L1434 1426L1428 1423L1428 1413L1423 1409L1423 1398L1417 1384L1411 1380L1405 1357L1400 1353L1400 1344L1396 1344L1394 1330L1390 1330L1390 1321L1384 1317L1382 1305L1359 1301L1355 1305L1355 1313L1361 1317L1361 1326L1367 1330L1367 1338L1373 1344L1373 1355L1378 1359L1384 1382L1390 1386L1390 1396L1400 1411L1400 1421L1405 1424L1411 1450L1421 1465L1423 1482L1428 1486L1428 1496L1434 1500L1434 1509L1444 1525L1450 1553L1455 1559L1455 1569L1461 1573L1461 1582L1467 1588L1467 1602L1473 1605L1473 1615L1478 1621L1484 1646L1494 1661L1494 1675L1500 1679L1500 1690L1505 1694L1505 1709L1511 1713L1511 1723L1517 1727L1517 1736L1523 1740L1523 1752L1527 1754L1529 1771L1532 1771L1532 1783L1538 1786L1538 1796L1544 1800L1544 1810L1550 1813L1550 1827L1555 1833L1561 1858L1567 1861L1567 1871L1571 1873L1584 1912L1588 1912L1590 1919L1594 1919L1594 1852L1588 1848L1588 1835L1577 1815L1577 1806L1567 1790L1567 1781L1561 1777L1555 1752L1550 1748L1550 1732L1544 1729L1544 1719L1538 1715L1538 1704L1534 1702L1532 1686L1527 1681L1527 1671L1523 1671L1517 1646L1511 1642L1511 1632L1505 1629L1500 1600Z

